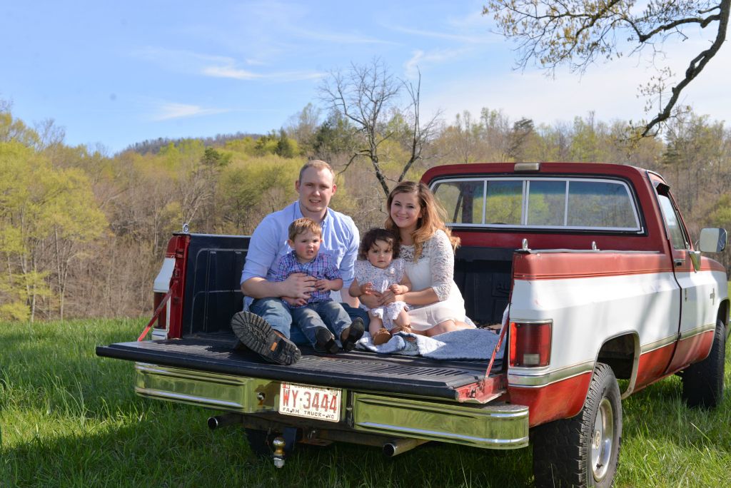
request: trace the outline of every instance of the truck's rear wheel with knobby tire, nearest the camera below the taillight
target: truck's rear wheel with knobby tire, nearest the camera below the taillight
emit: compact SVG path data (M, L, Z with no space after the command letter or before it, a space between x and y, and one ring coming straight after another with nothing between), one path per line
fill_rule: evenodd
M536 486L612 486L621 435L617 378L611 367L597 363L580 413L531 431Z

